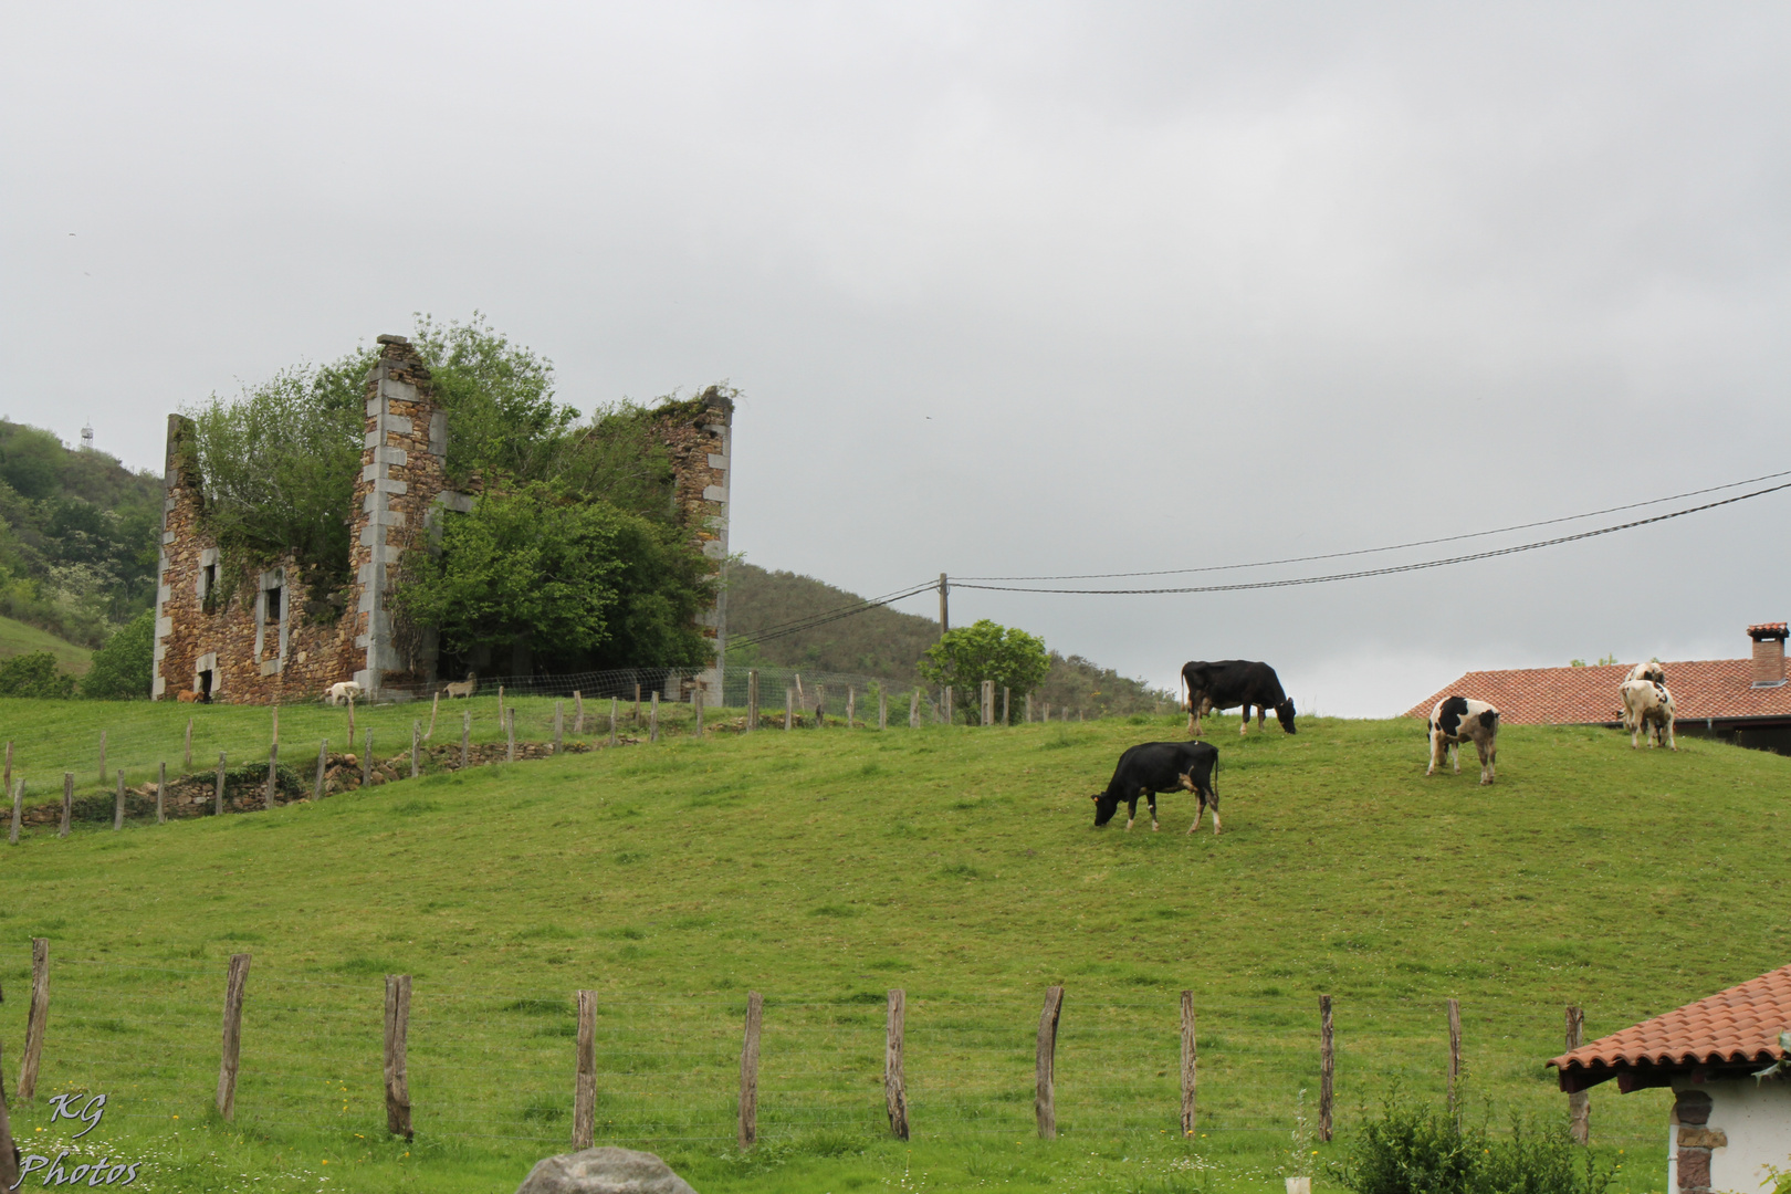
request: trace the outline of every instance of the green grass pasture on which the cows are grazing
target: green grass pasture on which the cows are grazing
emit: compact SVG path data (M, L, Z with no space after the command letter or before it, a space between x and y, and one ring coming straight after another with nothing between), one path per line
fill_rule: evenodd
M458 739L462 705L437 739ZM475 738L496 730L476 702ZM360 711L376 754L416 709ZM133 782L195 718L265 759L269 711L0 702L30 791L97 736ZM428 716L428 711L423 711ZM541 738L552 702L525 702ZM602 705L607 734L607 702ZM688 712L684 714L688 716ZM283 759L342 711L281 712ZM668 714L670 725L670 714ZM573 1011L598 992L598 1142L711 1190L1279 1190L1315 1117L1316 995L1340 1142L1393 1087L1440 1099L1461 1001L1469 1113L1558 1117L1562 1008L1589 1035L1786 961L1791 761L1594 729L1506 729L1497 786L1422 775L1413 721L1214 721L1225 834L1091 829L1119 750L1177 718L1007 730L711 734L424 775L274 813L29 831L0 856L0 1044L16 1081L29 938L52 940L27 1151L47 1094L107 1092L100 1131L152 1190L509 1192L571 1131ZM589 736L587 736L589 738ZM387 750L389 748L389 750ZM290 755L288 755L290 752ZM177 770L177 768L176 768ZM39 786L41 784L41 786ZM236 1119L210 1110L231 952L254 954ZM416 1139L385 1135L381 976L414 976ZM1067 988L1062 1135L1032 1053ZM883 1130L883 997L908 992L913 1140ZM1177 1001L1200 1017L1200 1130L1177 1133ZM765 994L761 1144L734 1144L745 994ZM1302 1090L1306 1092L1302 1099ZM1667 1096L1592 1097L1621 1190L1664 1183ZM1338 1146L1300 1149L1324 1165ZM1316 1149L1316 1156L1311 1151ZM1621 1149L1621 1151L1619 1151ZM328 1178L328 1181L324 1181ZM1334 1183L1320 1171L1318 1185Z

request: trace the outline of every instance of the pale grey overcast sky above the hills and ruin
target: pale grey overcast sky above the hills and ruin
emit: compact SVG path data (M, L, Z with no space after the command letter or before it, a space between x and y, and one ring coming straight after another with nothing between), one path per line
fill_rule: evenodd
M5 29L0 415L91 421L134 467L170 410L480 310L584 410L731 380L733 548L865 594L1791 469L1784 5L13 4ZM1791 490L1268 593L960 589L953 621L1162 686L1266 659L1302 705L1390 714L1469 668L1744 655L1791 616L1787 517Z

